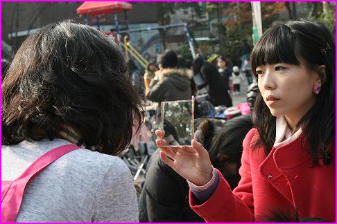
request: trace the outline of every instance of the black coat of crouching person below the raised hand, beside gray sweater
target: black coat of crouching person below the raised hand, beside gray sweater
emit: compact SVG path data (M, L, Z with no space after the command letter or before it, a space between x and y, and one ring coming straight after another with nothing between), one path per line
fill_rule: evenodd
M205 222L189 207L187 181L159 158L159 149L147 166L139 198L140 222Z

